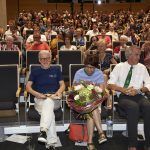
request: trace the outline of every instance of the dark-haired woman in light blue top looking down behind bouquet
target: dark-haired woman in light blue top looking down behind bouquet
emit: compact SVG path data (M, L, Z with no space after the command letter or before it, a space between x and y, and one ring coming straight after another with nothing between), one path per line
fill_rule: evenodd
M92 82L98 85L102 90L104 90L104 76L101 70L97 69L98 67L98 59L92 59L86 57L85 59L85 67L79 69L73 80L73 84L79 83L81 80ZM102 129L101 125L101 111L99 107L92 111L92 117L88 117L87 119L87 128L88 128L88 150L96 150L93 144L93 132L94 127L96 126L99 137L99 144L106 142L107 139Z

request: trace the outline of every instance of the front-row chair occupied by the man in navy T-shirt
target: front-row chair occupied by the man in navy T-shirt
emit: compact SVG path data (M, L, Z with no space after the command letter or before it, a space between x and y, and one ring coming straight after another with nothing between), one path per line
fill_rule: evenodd
M62 70L61 65L51 65L52 67L58 67L60 70ZM32 69L39 68L40 64L34 64L30 65L29 67L29 74ZM28 80L28 79L27 79ZM40 115L39 113L35 110L34 108L34 96L27 93L27 91L24 92L24 97L25 97L25 120L26 120L26 125L39 125L40 121ZM65 111L65 100L61 100L62 105L59 109L55 110L55 121L56 124L63 125L64 124L64 111Z

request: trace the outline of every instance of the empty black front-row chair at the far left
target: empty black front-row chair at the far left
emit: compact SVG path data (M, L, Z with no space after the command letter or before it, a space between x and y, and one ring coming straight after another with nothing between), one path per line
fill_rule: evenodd
M18 65L0 65L0 122L20 124L20 92Z

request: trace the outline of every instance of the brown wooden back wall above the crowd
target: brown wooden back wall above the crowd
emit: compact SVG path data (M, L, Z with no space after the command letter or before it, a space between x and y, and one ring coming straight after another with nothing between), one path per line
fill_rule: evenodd
M6 0L7 2L7 20L15 19L18 16L19 11L22 10L68 10L70 11L70 3L46 3L46 0ZM13 4L12 4L13 3ZM83 10L98 10L98 11L106 11L111 12L113 10L118 9L131 9L133 11L138 11L140 9L147 10L150 8L147 2L145 3L114 3L114 4L101 4L101 5L93 5L89 3L85 3L83 6ZM74 4L74 10L80 10L80 4Z

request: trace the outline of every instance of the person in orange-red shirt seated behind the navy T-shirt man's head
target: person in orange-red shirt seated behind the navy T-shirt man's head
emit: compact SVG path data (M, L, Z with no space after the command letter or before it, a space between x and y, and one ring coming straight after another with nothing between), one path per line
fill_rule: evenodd
M34 31L33 42L28 44L26 50L50 50L46 42L41 42L41 34L39 31Z

